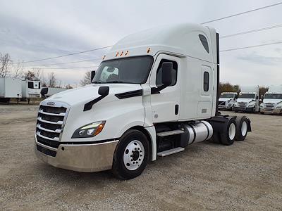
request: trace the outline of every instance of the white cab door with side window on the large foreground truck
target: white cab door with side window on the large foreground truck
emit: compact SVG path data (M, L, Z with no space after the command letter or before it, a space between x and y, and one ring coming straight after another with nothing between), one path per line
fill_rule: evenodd
M149 79L151 88L161 86L161 65L164 62L173 63L172 83L169 87L151 94L152 120L157 122L171 122L178 120L180 111L180 58L160 54L154 63Z

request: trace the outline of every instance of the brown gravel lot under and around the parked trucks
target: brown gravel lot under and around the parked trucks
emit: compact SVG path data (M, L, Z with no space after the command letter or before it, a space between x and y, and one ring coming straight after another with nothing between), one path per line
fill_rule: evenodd
M282 116L247 114L245 141L196 143L119 181L37 160L37 108L0 105L1 210L282 210Z

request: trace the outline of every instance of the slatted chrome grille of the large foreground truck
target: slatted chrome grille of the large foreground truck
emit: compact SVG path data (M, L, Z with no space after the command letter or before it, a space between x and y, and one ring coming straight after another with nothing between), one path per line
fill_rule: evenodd
M43 102L43 105L39 106L37 116L37 141L46 146L58 148L67 113L68 106L62 103L56 103L56 106L47 106L47 102Z

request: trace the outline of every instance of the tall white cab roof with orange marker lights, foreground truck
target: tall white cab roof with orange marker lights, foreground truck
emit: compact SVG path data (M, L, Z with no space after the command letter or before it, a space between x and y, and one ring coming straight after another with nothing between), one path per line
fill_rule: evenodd
M211 32L215 39L215 30L202 25L182 23L155 27L124 37L111 48L104 59L154 56L159 51L166 51L176 56L190 56L213 62L216 49L214 44L212 46Z

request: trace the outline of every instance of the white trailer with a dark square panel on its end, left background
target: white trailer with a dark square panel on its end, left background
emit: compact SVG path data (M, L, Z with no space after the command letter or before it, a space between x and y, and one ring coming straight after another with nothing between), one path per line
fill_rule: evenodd
M39 98L41 97L41 82L32 81L32 80L24 80L22 81L22 98L28 99L30 98Z

